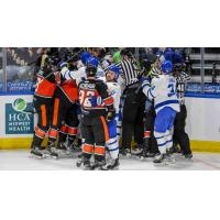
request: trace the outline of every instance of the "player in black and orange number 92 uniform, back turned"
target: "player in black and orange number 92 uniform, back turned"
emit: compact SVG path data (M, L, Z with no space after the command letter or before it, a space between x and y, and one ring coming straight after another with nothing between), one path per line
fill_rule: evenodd
M89 58L87 62L87 79L82 80L79 88L79 101L81 106L81 134L84 166L87 169L98 167L102 169L106 164L106 143L109 141L107 120L111 121L116 116L113 98L108 95L107 85L96 79L98 61ZM97 105L92 103L92 99ZM107 117L107 120L106 120ZM95 154L95 165L90 158Z

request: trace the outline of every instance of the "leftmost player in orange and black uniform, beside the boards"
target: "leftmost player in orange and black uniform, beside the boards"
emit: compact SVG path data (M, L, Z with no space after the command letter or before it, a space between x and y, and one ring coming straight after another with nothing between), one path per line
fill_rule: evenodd
M44 148L41 144L48 131L52 114L53 96L56 88L56 77L54 75L55 57L42 56L41 69L37 73L37 82L34 94L34 108L37 114L37 124L34 130L34 138L31 146L31 154L42 157ZM52 65L54 64L54 65ZM54 156L54 152L48 148L50 153Z

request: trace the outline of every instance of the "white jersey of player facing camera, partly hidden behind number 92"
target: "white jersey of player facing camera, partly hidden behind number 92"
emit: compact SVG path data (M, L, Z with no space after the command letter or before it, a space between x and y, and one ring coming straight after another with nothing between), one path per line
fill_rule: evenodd
M113 106L114 106L116 112L119 113L121 86L116 81L107 81L106 77L98 77L98 78L107 84L108 94L109 96L113 98Z

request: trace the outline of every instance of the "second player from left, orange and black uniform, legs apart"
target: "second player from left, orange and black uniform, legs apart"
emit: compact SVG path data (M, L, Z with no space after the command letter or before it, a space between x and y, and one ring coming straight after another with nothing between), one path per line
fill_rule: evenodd
M65 65L67 66L67 63L62 62L62 64L59 64L59 68L63 68ZM57 148L62 151L66 150L66 146L64 145L65 133L68 135L68 145L73 145L77 135L77 127L79 123L77 118L77 99L78 89L76 80L67 80L61 76L59 84L57 84L55 90L53 120L48 132L48 145L51 148L55 148L55 142L58 138L59 129L61 135ZM62 125L64 121L66 123Z

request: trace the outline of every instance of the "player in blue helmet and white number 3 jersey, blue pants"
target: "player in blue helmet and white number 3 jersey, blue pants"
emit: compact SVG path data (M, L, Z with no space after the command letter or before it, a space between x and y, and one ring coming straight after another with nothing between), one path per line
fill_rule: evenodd
M163 163L169 158L167 151L173 145L172 129L176 113L179 112L179 101L176 96L176 79L170 75L173 64L164 61L161 66L162 75L155 77L151 85L147 80L142 82L143 92L148 99L154 99L156 118L154 122L154 136L156 138L160 155L154 163Z

